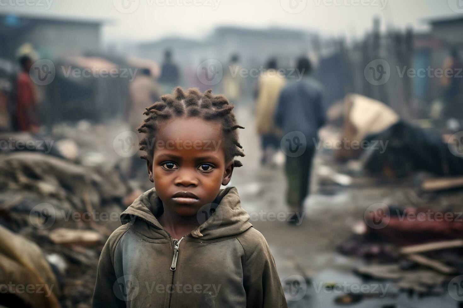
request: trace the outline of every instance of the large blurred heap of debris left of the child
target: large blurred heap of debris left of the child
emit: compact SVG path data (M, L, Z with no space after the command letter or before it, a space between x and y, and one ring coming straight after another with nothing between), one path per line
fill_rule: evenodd
M138 196L117 166L82 164L75 143L62 146L67 155L18 146L0 154L2 307L91 307L100 251L127 196Z

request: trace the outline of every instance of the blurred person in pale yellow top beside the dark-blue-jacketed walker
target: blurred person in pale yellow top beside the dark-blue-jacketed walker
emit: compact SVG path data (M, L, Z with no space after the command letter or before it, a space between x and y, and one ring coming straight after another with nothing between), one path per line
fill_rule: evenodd
M256 128L257 133L261 136L262 165L272 163L275 151L280 146L274 117L278 97L285 84L285 77L277 72L276 59L270 59L267 63L267 70L257 80L255 93Z

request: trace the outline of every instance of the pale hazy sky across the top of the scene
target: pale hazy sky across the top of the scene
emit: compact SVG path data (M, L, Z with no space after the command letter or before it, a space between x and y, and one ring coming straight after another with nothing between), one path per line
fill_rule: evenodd
M426 18L463 17L451 9L457 1L463 5L463 0L0 0L0 11L104 20L106 42L201 37L217 25L358 37L371 29L374 16L382 18L383 26L416 29L424 29Z

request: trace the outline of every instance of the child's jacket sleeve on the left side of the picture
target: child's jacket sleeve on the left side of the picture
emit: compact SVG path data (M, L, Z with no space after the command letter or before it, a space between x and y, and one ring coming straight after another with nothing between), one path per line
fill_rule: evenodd
M93 308L126 307L124 297L119 292L119 286L116 285L117 278L113 266L114 248L124 233L121 232L121 228L116 229L101 251L92 300Z

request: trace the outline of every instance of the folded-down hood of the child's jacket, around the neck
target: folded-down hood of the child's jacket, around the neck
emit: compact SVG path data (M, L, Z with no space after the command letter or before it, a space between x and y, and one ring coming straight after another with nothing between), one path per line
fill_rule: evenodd
M122 212L120 220L122 224L126 224L138 217L156 229L164 230L156 219L163 211L163 202L157 196L156 190L151 188ZM211 204L200 208L197 217L201 224L191 231L191 236L204 240L235 236L252 227L249 214L241 207L236 187L220 189Z

